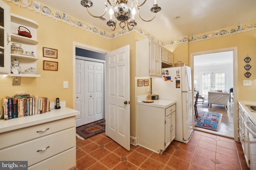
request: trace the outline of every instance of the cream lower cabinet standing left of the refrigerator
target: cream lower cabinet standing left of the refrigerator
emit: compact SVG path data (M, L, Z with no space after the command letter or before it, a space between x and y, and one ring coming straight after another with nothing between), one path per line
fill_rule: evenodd
M137 104L137 138L138 145L162 154L175 138L175 104L168 108Z

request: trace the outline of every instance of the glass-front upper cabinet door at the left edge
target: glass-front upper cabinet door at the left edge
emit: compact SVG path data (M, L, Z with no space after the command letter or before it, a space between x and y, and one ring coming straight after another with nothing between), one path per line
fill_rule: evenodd
M10 6L0 1L0 73L10 73Z

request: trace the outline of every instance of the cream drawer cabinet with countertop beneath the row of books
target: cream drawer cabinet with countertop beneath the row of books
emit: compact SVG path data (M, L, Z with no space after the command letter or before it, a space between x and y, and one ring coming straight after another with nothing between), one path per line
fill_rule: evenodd
M79 112L70 109L71 113L62 113L61 110L66 108L1 120L0 160L28 161L29 170L68 170L76 166L75 116ZM5 126L8 122L10 127Z

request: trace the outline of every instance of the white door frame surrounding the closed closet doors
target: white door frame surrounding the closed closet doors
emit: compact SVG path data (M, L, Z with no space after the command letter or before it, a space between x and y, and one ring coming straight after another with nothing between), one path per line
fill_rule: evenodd
M104 49L100 49L97 47L92 47L90 45L85 45L82 43L78 43L73 41L73 57L72 57L72 62L73 62L73 109L76 109L76 59L86 59L87 61L94 61L94 62L98 62L98 63L104 63L104 99L106 99L106 66L105 66L105 62L103 60L98 60L98 59L92 59L92 58L88 58L88 57L80 57L80 56L76 56L76 47L82 48L82 49L86 49L86 50L90 50L90 51L95 51L95 52L99 52L99 53L104 53L107 54L109 51L104 50ZM104 109L106 108L106 100L104 100ZM105 115L104 115L105 117Z

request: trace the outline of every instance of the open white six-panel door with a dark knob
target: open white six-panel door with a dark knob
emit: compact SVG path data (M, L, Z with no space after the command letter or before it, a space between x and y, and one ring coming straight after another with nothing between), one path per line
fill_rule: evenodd
M130 46L106 55L106 135L130 150Z

